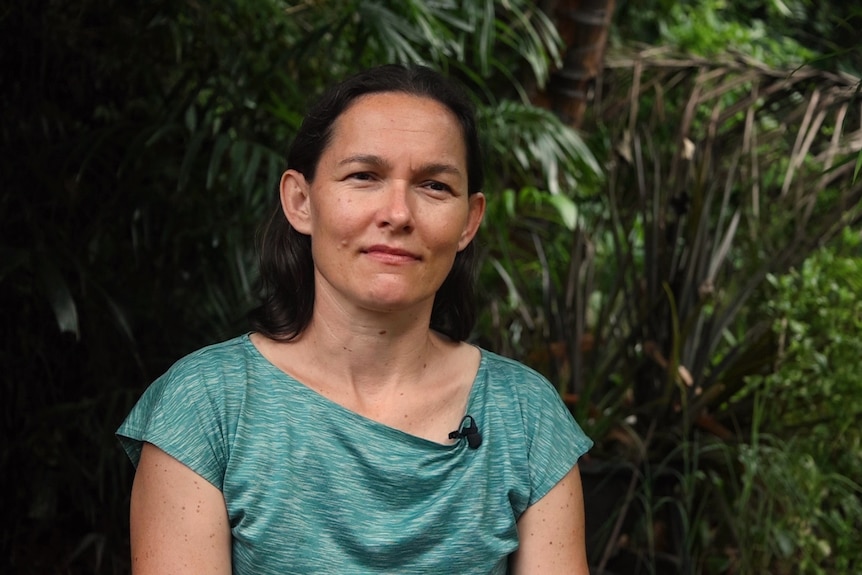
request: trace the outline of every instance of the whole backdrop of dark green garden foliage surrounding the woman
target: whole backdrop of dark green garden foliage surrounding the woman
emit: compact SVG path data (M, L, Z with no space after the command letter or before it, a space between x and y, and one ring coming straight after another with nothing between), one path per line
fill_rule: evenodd
M596 441L593 572L862 572L860 29L837 0L4 3L2 572L129 572L114 430L247 329L307 104L385 62L476 102L473 339Z

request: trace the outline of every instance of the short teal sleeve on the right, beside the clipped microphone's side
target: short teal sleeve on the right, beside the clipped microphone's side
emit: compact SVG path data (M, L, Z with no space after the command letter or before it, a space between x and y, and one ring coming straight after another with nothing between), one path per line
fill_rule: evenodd
M544 497L593 446L557 390L536 374L524 414L530 468L529 505Z

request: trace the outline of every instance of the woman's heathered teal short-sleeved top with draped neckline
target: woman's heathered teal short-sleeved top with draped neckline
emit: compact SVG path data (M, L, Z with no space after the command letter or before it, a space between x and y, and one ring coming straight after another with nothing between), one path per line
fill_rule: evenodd
M362 417L285 374L248 335L177 362L117 431L224 494L237 575L505 573L516 522L592 445L554 387L481 350L477 449Z

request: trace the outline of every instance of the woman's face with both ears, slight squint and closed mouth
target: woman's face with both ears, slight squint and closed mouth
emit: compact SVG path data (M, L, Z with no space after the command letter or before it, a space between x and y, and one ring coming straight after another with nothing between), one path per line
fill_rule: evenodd
M315 305L379 312L430 311L485 209L481 194L467 193L456 117L397 92L354 101L333 125L314 182L288 171L281 193L290 223L311 236Z

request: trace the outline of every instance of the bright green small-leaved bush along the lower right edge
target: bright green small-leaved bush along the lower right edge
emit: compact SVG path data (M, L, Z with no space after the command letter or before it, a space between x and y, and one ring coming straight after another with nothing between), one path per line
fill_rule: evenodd
M860 568L860 247L862 236L847 229L837 245L770 277L766 307L781 345L774 371L749 378L746 393L757 397L760 425L787 439L741 451L743 484L757 491L738 502L737 528L758 542L752 566L775 562L817 575Z

